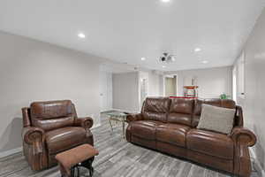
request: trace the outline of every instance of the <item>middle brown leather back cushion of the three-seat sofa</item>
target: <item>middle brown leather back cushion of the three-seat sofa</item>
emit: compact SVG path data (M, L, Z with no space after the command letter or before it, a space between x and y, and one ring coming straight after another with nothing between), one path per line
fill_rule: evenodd
M169 123L192 126L194 100L188 98L171 98Z

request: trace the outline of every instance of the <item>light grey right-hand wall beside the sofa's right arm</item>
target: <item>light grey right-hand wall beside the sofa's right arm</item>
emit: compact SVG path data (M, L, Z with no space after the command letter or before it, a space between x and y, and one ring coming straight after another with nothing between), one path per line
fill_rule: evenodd
M245 46L245 125L254 130L256 157L265 168L265 10Z

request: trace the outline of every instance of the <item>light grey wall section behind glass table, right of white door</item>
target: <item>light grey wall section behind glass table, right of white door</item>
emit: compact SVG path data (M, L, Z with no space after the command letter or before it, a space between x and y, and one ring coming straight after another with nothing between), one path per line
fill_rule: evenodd
M140 111L139 73L113 73L113 108L129 111Z

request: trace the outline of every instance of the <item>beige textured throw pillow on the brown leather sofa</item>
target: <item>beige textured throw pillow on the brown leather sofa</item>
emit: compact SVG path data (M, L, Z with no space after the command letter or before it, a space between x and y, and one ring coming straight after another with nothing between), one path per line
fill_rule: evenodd
M230 134L236 110L202 104L201 119L197 128Z

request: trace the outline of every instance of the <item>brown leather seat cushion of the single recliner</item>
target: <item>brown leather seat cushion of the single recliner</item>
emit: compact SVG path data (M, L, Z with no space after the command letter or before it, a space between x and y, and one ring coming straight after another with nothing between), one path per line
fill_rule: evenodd
M63 127L47 132L46 144L49 154L69 150L86 141L87 132L83 127Z

